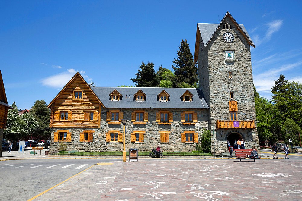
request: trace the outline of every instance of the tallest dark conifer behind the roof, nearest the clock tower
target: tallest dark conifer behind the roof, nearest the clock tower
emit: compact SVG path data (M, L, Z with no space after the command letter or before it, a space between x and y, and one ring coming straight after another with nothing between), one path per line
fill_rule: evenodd
M175 75L174 86L179 87L180 83L188 83L194 85L198 82L198 69L197 65L194 64L193 54L190 52L189 44L187 40L180 42L179 50L177 51L177 58L174 58L172 65Z

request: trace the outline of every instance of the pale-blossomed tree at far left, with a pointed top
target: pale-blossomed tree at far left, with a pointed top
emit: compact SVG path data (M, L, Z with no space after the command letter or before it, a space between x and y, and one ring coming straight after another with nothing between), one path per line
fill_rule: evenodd
M3 132L3 138L13 142L13 150L16 149L17 141L26 137L27 130L26 122L19 115L16 103L12 104L14 109L9 109L7 112L6 129Z

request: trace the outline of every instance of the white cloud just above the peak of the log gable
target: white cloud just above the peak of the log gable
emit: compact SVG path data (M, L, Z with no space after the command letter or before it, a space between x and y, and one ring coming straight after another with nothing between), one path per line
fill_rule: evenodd
M55 88L62 88L65 86L69 80L76 74L76 70L73 68L67 69L67 71L52 75L50 77L44 78L41 82L44 86L50 86ZM82 77L88 78L85 71L80 71Z

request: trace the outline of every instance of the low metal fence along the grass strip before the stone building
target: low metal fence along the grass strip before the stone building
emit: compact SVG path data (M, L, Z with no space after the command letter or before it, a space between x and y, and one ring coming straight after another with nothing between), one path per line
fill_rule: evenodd
M139 156L148 156L151 151L139 151ZM164 156L213 156L211 153L198 153L198 152L162 152ZM61 151L56 153L51 153L50 155L70 155L70 156L122 156L122 151L112 151L112 152L79 152L79 151ZM126 150L126 155L129 155L128 150Z

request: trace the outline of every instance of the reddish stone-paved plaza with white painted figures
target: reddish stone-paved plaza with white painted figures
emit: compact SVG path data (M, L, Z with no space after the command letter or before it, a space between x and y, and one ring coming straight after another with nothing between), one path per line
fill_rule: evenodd
M36 200L302 200L290 159L140 160L92 168Z

